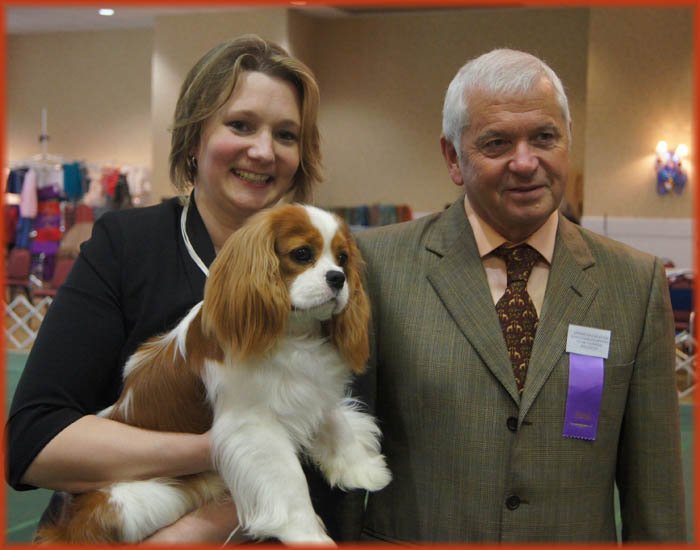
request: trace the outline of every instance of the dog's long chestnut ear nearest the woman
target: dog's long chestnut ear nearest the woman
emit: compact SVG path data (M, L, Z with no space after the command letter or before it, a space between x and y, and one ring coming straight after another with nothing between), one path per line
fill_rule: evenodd
M212 263L202 329L224 352L246 359L272 348L286 330L290 309L272 219L264 210L228 238Z

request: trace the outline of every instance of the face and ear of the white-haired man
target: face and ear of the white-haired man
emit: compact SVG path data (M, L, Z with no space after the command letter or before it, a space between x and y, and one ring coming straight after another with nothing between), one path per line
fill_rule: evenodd
M443 139L450 176L464 185L474 211L509 241L534 233L558 208L569 167L566 122L551 84L524 96L469 99L461 162Z

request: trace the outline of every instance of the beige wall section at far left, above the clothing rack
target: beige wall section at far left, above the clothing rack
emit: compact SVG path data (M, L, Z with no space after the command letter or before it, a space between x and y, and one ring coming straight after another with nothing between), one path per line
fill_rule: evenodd
M10 35L7 40L7 159L41 152L67 160L151 165L148 30Z

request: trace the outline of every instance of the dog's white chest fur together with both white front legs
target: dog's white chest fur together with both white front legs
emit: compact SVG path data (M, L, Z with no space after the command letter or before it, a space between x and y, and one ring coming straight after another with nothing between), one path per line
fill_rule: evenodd
M378 490L389 483L379 429L344 397L350 371L327 340L283 338L264 359L209 361L205 373L215 467L256 538L332 542L311 505L301 452L331 485Z

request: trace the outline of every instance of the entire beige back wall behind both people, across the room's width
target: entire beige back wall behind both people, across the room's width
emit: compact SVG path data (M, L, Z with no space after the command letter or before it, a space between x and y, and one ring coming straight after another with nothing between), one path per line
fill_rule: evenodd
M509 46L542 56L567 87L584 214L688 217L689 194L655 195L651 163L659 139L690 142L692 20L689 7L340 19L269 8L161 17L153 31L10 36L8 158L38 151L46 105L52 151L152 164L153 197L171 194L168 127L186 70L216 42L257 32L317 73L327 176L319 204L439 209L460 192L438 147L444 89L467 58Z

